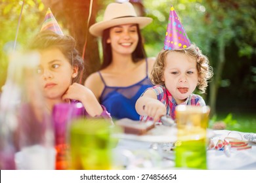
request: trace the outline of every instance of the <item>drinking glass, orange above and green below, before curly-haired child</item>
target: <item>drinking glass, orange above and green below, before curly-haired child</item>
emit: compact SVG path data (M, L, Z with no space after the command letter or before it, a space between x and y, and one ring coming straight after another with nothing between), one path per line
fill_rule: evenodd
M209 107L178 105L175 166L189 169L207 169L207 125Z

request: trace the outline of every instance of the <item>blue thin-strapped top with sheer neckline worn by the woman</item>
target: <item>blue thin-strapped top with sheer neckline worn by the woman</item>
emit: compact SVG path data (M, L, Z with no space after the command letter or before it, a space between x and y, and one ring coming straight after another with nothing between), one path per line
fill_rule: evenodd
M152 87L152 83L148 78L148 61L146 59L146 77L139 82L126 87L107 86L101 73L98 71L104 90L100 95L100 104L104 105L113 120L121 118L129 118L131 120L139 120L140 116L135 110L135 103L140 95L147 88Z

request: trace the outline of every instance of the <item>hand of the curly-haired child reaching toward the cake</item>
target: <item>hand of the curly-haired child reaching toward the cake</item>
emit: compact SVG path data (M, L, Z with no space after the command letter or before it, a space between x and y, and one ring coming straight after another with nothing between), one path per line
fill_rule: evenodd
M156 99L150 99L143 108L148 116L154 118L154 122L157 122L161 116L166 114L165 105Z

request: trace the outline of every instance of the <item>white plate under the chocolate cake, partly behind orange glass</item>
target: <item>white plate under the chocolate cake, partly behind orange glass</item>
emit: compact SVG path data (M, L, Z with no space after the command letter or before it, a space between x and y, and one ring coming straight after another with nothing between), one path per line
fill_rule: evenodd
M207 129L207 138L211 138L215 135L212 129ZM153 129L150 129L145 135L133 135L127 133L114 133L112 137L117 139L127 139L133 141L143 142L176 142L177 141L177 127L156 125Z

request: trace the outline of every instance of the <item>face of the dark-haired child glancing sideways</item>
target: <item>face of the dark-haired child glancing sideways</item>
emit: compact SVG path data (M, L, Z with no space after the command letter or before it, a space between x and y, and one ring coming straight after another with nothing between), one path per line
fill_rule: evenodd
M37 73L40 75L43 93L48 99L61 99L72 84L72 78L77 75L77 69L72 69L72 65L58 48L41 50L40 54Z

